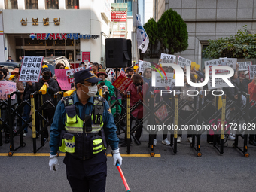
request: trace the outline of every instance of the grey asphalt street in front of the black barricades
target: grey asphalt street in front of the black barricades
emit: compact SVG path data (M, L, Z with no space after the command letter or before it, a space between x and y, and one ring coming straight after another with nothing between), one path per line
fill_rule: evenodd
M202 157L196 156L185 138L178 144L178 153L173 154L169 146L160 143L161 136L157 136L157 147L154 148L160 157L123 157L121 168L130 190L254 191L256 148L248 145L250 157L245 158L240 151L232 148L233 142L229 141L229 146L224 148L221 155L206 142L206 136L202 137ZM131 153L149 154L147 139L148 136L142 136L144 142L140 146L133 144ZM15 138L15 142L18 142L18 138ZM48 156L15 156L18 153L32 153L30 136L26 136L25 142L26 147L18 149L13 157L3 156L8 152L8 145L0 147L1 191L71 191L62 163L64 157L58 157L59 170L50 172ZM38 154L47 155L48 145L47 142ZM239 145L242 146L242 139ZM121 148L121 154L126 154L126 148ZM112 164L112 157L108 157L106 191L126 191L117 168Z

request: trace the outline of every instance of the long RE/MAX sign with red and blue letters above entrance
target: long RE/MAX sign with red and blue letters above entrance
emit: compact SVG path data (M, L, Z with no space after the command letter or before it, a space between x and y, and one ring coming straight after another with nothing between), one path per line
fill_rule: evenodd
M31 33L29 35L32 40L47 40L47 39L60 39L60 40L66 40L69 39L97 39L99 38L99 35L83 35L79 33Z

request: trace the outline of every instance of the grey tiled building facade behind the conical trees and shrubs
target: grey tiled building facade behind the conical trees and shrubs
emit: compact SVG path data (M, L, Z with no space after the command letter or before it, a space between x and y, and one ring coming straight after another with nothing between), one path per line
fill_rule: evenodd
M209 39L235 35L243 26L249 32L256 29L255 0L154 0L154 20L172 8L187 23L187 50L175 55L201 63L202 50Z

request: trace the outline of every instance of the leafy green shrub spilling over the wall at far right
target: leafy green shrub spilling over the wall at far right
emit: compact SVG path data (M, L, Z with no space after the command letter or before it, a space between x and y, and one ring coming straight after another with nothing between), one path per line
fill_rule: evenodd
M235 36L209 40L209 46L203 50L203 57L256 58L256 36L248 34L244 26Z

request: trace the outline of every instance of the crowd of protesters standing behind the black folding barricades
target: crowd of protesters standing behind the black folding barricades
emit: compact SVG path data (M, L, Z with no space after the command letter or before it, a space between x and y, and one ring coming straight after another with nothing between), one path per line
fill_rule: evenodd
M10 58L9 58L10 59ZM151 95L154 94L154 106L160 103L161 101L165 101L168 105L171 105L171 100L169 99L171 97L171 93L164 94L163 96L160 96L160 90L177 90L179 92L187 92L187 90L208 90L207 84L204 87L191 87L190 84L187 83L187 77L186 77L186 69L184 69L184 87L175 87L175 84L169 84L166 87L153 87L151 84L151 78L152 78L152 72L154 69L151 67L146 67L143 72L139 73L139 67L131 66L126 69L114 69L114 72L117 72L117 76L119 76L121 73L120 71L123 70L125 73L122 74L126 78L129 78L133 80L133 83L129 85L129 87L126 88L124 91L117 90L112 84L116 80L116 75L109 75L108 72L110 69L105 69L102 64L98 64L97 62L90 62L90 63L84 63L81 62L79 67L84 67L87 69L88 67L92 69L93 74L95 74L98 78L101 78L102 81L99 81L97 87L98 90L102 88L103 93L106 93L106 100L109 102L110 105L113 105L116 101L119 102L121 105L123 105L124 108L126 108L126 94L128 91L131 94L131 107L133 105L136 105L137 102L141 101L144 102L145 105L149 105L149 101L151 98ZM57 63L55 66L56 69L64 69L65 66L62 63ZM174 72L171 67L163 67L165 72ZM203 82L205 78L204 70L200 71L200 69L190 69L190 80L194 83L196 82ZM14 75L13 78L10 78L9 70L7 68L0 69L0 81L13 81L16 83L17 90L20 91L20 97L22 100L26 100L30 104L30 94L34 93L35 91L39 91L43 85L46 85L47 87L47 93L43 96L42 103L38 103L38 105L42 105L45 101L50 101L53 103L54 94L58 91L61 91L61 88L57 82L56 75L52 75L50 72L50 69L47 67L44 67L41 69L41 78L38 82L32 83L31 81L27 82L20 82L19 81L19 75L20 75L20 66L17 66L14 68L14 71L11 72L11 75ZM232 123L232 121L235 121L236 114L239 111L239 108L242 108L242 106L245 105L245 96L242 95L241 98L238 98L239 92L247 93L250 95L251 100L256 100L256 78L251 81L248 76L248 71L238 71L235 70L235 73L233 77L231 77L231 82L235 87L225 87L223 88L224 93L227 94L227 99L232 100L236 103L236 106L233 108L229 108L227 110L227 122ZM74 89L74 88L73 88ZM210 93L210 92L208 92ZM1 98L3 100L3 98ZM203 101L206 102L206 100L210 100L212 102L215 102L214 97L210 94L207 94L206 96L203 96ZM194 96L186 96L183 94L180 94L179 102L187 101L189 102L189 105L184 106L184 108L181 108L181 111L179 111L179 115L181 117L187 118L190 117L191 114L193 114L193 108L197 108L198 106L198 99L197 104L194 102ZM240 101L240 103L239 103ZM118 110L116 109L116 105L114 105L111 109L112 114L114 115L114 118L120 117L120 115L124 114L125 111L122 110L120 105L118 106ZM23 119L29 120L30 117L30 106L25 105L23 108ZM163 110L163 108L161 108ZM166 113L170 113L168 109L166 110ZM119 111L117 113L117 111ZM43 110L43 116L46 120L50 120L54 116L55 107L53 105L47 105L47 107ZM207 119L207 117L211 117L211 115L214 113L214 110L206 110L206 112L203 114L204 117ZM143 105L139 105L133 112L133 117L135 117L137 120L142 120L143 118ZM251 119L256 116L256 108L255 110L252 110ZM8 111L6 108L1 109L1 118L5 120L8 117ZM15 121L15 120L14 120ZM24 123L24 122L23 122ZM44 122L43 124L45 124ZM131 120L131 125L134 123L134 120ZM178 126L181 126L183 122L178 121ZM196 124L197 119L191 120L190 124ZM208 122L206 122L208 123ZM14 126L17 126L17 123L14 122ZM122 121L120 126L126 126L125 120ZM38 125L37 125L38 127ZM135 139L134 142L137 145L140 145L140 138L142 136L142 127L139 126L138 129L135 132ZM124 128L125 129L125 128ZM5 143L10 142L10 133L8 133L8 129L4 129L5 131ZM37 130L39 131L39 130ZM23 130L23 136L26 136L26 133L28 132L28 126L26 126ZM47 139L49 137L48 130L45 130L43 133L44 142L47 142ZM226 136L227 139L234 140L234 132L230 131L228 136ZM178 132L178 140L177 142L180 143L182 140L182 133ZM191 133L187 133L187 142L192 142L192 135ZM212 142L212 134L209 133L207 136L207 142ZM167 134L163 133L163 140L162 143L164 145L170 145L169 140L167 139ZM256 146L256 138L255 135L249 136L249 143L251 145ZM157 145L157 135L154 135L154 145ZM121 146L126 146L126 140L123 141Z

